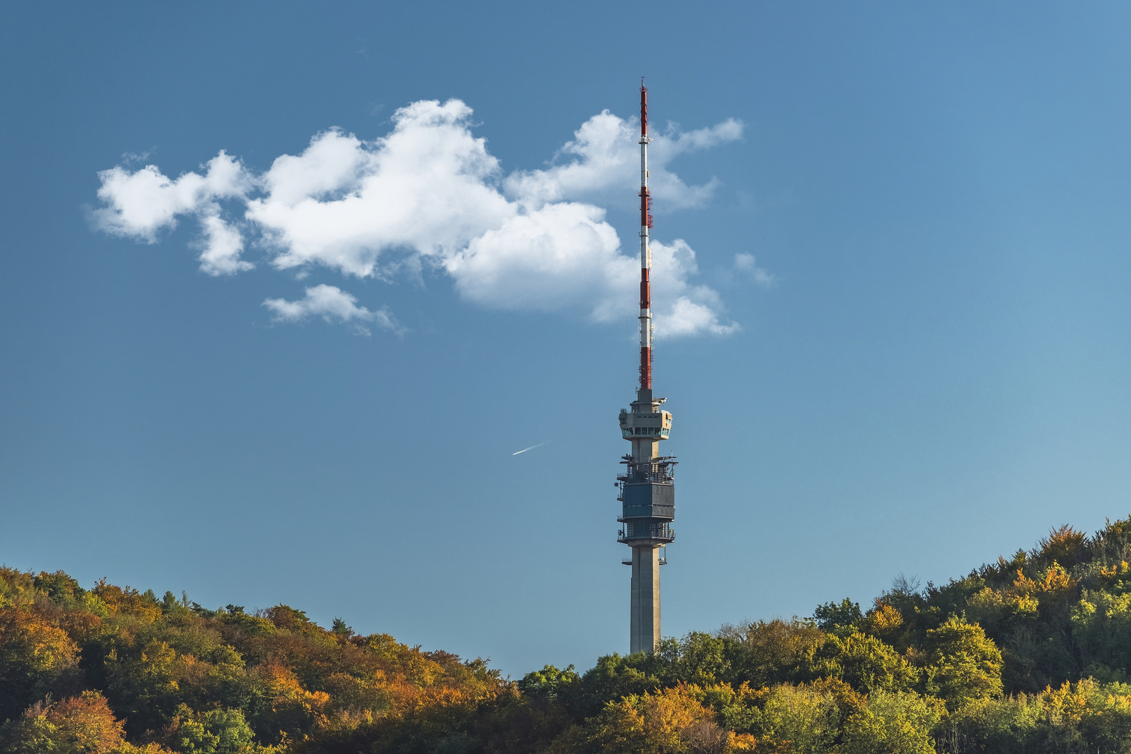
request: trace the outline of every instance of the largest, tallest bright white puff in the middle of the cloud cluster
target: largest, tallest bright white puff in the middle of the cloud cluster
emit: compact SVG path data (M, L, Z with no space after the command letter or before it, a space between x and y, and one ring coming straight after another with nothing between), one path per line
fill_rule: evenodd
M472 136L470 115L458 99L417 102L394 114L385 138L328 131L276 159L267 196L248 202L277 251L273 263L380 275L385 253L442 259L500 227L517 207L491 185L499 163Z

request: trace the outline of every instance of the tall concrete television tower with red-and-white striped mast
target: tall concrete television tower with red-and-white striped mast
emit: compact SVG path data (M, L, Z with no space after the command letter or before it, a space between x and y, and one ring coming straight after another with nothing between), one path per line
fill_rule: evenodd
M623 527L616 541L632 548L632 596L629 651L651 652L659 642L659 566L667 563L661 548L675 539L675 457L659 454L659 441L672 430L672 415L661 410L666 399L651 397L651 197L648 194L648 89L640 80L640 387L632 409L621 409L621 436L632 443L623 457L624 473L616 486L623 503L616 518ZM664 551L666 553L666 549Z

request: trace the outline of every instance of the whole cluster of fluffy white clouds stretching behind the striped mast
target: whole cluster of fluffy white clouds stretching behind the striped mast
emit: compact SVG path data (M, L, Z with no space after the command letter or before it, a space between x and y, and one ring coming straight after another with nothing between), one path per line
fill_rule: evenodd
M396 112L387 136L365 141L331 129L262 173L224 151L201 172L175 180L154 165L113 167L100 173L102 203L93 222L153 243L180 218L195 218L200 268L209 275L251 269L243 254L253 248L265 265L300 277L326 268L391 280L428 268L450 276L465 300L483 306L578 311L595 321L629 315L639 261L634 249L621 248L603 206L633 198L638 127L603 112L546 167L504 175L485 140L472 132L470 118L458 99L416 102ZM689 185L668 164L741 136L734 120L689 132L670 125L654 135L654 197L665 209L702 205L715 182ZM684 241L654 241L651 249L657 337L737 328L726 320L718 294L694 283L696 253ZM736 268L744 263L735 260ZM264 305L280 321L321 317L402 329L387 310L370 311L330 285Z

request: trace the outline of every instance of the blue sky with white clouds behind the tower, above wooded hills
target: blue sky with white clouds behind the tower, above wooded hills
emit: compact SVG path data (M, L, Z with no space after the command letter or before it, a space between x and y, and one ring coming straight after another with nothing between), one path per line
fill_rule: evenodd
M1129 32L1120 3L8 3L0 560L515 676L624 651L641 75L665 635L1125 517ZM312 139L339 161L270 172Z

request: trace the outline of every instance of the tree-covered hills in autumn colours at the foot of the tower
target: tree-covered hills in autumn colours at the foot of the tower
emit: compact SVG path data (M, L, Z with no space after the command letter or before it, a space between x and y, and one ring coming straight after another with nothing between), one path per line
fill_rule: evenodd
M1131 519L866 610L517 682L277 605L0 569L0 752L1131 752Z

